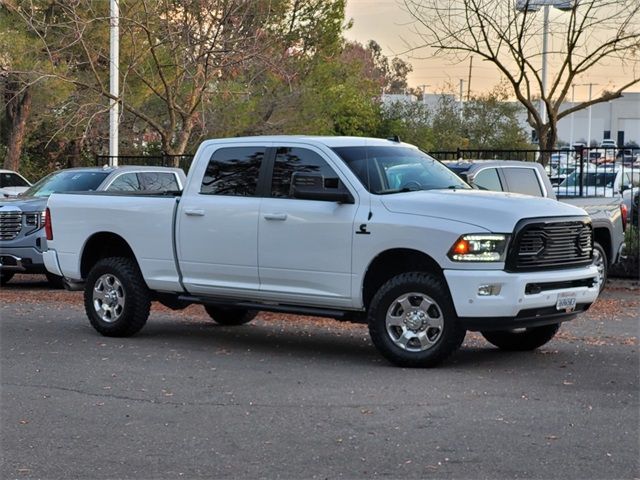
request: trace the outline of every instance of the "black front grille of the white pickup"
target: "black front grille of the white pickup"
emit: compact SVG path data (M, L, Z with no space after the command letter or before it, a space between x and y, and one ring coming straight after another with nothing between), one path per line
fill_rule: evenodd
M532 271L589 265L593 231L589 220L521 222L507 254L507 271Z

